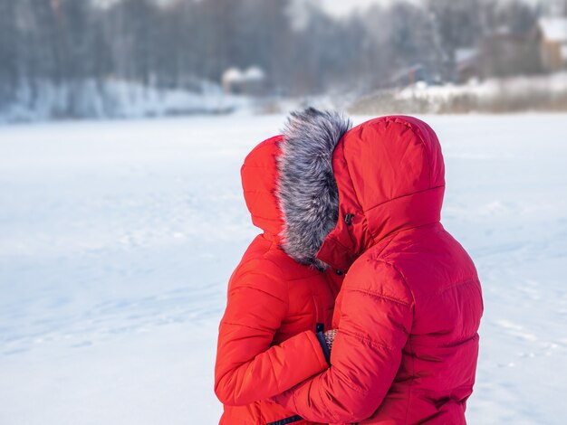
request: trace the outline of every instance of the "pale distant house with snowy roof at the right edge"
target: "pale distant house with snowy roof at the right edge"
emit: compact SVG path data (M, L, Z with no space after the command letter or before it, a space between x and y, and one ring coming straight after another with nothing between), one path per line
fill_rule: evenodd
M541 18L535 33L543 70L553 72L567 69L567 17Z

